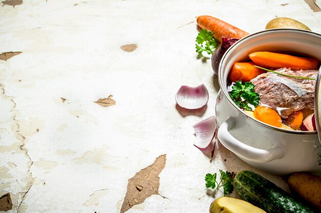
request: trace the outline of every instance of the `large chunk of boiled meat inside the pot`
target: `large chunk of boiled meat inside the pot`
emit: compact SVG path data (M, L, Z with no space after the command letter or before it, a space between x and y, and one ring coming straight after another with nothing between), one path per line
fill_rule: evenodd
M291 70L281 68L278 73L316 79L318 70ZM259 94L260 105L268 105L283 118L293 111L314 108L315 80L285 77L271 72L258 75L251 82Z

